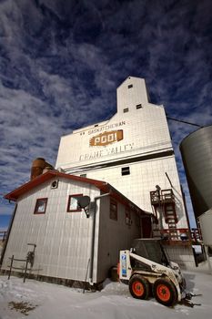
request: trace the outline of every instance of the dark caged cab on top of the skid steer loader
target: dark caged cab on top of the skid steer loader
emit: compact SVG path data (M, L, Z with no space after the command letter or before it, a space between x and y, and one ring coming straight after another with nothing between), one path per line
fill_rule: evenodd
M168 266L170 264L160 240L149 238L136 239L132 244L131 250L137 255L152 262L156 262L164 266Z

